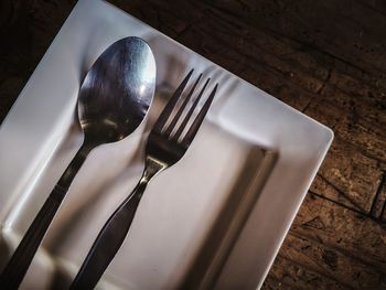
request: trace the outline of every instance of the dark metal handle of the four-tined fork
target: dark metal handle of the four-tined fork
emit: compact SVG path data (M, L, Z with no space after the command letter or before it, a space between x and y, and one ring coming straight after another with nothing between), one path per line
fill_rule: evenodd
M106 222L77 272L72 290L94 289L122 245L142 197L147 181L141 179Z

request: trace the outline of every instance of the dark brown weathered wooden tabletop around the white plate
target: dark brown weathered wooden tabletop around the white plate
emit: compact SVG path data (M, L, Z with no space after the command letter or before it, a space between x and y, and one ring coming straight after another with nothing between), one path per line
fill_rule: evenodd
M264 289L386 289L386 2L111 2L334 130ZM74 4L0 1L0 120Z

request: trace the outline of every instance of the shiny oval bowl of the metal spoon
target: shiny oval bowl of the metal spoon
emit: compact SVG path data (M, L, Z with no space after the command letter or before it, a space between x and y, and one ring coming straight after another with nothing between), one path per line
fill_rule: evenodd
M86 75L78 97L85 143L115 142L143 120L156 85L156 62L139 37L111 44Z

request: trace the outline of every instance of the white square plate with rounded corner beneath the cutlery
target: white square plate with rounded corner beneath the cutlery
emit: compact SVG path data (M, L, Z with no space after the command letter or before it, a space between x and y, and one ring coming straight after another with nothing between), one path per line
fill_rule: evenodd
M98 288L261 286L332 131L104 1L79 1L0 128L1 266L79 147L79 85L112 42L154 52L157 95L127 139L92 152L22 288L65 288L142 170L146 132L193 67L219 90L185 158L149 185ZM55 272L55 275L54 275ZM36 279L36 277L40 279Z

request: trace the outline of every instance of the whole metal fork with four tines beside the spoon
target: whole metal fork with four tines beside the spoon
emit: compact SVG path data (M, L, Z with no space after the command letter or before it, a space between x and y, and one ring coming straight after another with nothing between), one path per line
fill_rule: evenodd
M144 154L146 165L140 181L99 232L94 245L88 251L86 259L84 260L72 283L71 289L93 289L96 286L124 243L147 184L158 173L181 160L197 133L216 94L218 84L214 86L205 104L197 112L194 121L191 121L187 129L186 126L192 119L192 115L210 82L210 78L207 78L197 97L185 114L185 117L182 119L182 115L185 112L185 107L192 98L200 79L202 78L201 74L194 82L186 97L183 99L180 108L176 108L176 104L179 103L179 99L182 96L182 93L192 74L193 69L185 76L180 86L175 89L173 96L170 98L156 121L148 137ZM176 110L176 112L174 117L172 117L172 112L174 110ZM171 119L171 121L168 125L169 119Z

